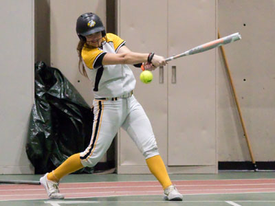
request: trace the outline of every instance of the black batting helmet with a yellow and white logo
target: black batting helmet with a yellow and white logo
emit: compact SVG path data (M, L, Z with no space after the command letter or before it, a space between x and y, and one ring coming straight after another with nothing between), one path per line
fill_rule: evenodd
M102 36L106 35L105 27L98 15L91 12L82 14L76 21L76 34L82 41L86 41L85 36L102 32Z

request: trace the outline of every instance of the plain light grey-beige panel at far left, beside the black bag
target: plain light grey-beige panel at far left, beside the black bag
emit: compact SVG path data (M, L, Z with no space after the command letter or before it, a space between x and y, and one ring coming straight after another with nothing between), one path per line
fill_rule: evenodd
M0 174L32 173L25 152L34 101L34 1L0 1Z

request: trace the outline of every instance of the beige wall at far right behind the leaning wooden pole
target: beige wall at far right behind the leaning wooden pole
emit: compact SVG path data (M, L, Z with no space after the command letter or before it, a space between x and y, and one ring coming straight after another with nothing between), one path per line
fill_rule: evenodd
M275 159L275 1L219 0L221 36L240 32L225 47L256 161ZM217 69L219 161L250 161L221 54Z

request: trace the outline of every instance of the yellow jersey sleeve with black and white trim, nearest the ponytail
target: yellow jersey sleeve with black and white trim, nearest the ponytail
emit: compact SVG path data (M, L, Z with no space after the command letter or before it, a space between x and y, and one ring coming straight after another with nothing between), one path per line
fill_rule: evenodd
M98 69L102 65L102 58L106 54L99 48L83 47L81 56L89 69Z

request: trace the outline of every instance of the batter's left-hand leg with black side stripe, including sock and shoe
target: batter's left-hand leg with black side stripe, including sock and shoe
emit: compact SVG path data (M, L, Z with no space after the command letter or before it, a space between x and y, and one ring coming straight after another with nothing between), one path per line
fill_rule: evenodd
M121 101L94 100L94 124L91 141L84 152L72 155L56 170L41 177L41 184L45 187L50 198L64 198L58 190L58 182L63 176L80 170L85 166L94 167L111 145L115 133L118 132L122 119L120 117Z

